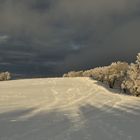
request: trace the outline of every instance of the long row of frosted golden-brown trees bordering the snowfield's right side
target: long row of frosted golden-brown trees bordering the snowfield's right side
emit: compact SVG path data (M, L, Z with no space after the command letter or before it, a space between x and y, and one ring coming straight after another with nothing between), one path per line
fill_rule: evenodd
M63 77L91 77L108 84L110 88L117 86L127 94L140 96L140 53L131 64L118 61L86 71L70 71Z

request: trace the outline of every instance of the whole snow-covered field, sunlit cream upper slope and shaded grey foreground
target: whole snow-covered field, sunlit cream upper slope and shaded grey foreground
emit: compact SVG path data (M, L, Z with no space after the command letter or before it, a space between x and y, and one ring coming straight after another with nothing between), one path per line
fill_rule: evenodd
M0 140L140 140L140 98L89 78L0 82Z

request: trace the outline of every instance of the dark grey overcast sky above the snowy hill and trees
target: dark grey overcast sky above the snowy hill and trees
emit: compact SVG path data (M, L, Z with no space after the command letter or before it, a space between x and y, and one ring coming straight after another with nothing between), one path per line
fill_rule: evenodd
M140 51L140 0L0 0L0 71L56 76Z

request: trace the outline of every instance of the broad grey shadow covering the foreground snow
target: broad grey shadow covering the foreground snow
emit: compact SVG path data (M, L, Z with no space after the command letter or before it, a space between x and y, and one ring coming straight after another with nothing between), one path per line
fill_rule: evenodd
M67 111L31 114L36 108L0 114L0 140L139 140L140 105L120 109L81 106L78 119Z

